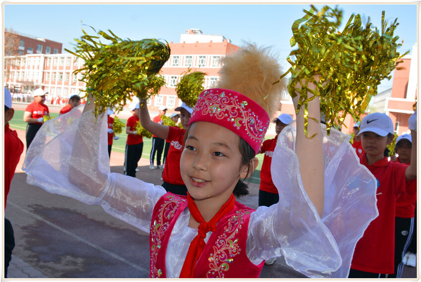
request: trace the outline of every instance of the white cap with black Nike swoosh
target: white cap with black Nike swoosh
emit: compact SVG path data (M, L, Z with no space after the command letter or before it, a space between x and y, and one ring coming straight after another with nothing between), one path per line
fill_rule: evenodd
M393 134L392 120L386 114L369 114L361 121L358 135L367 131L374 132L380 136L387 136L389 133Z

